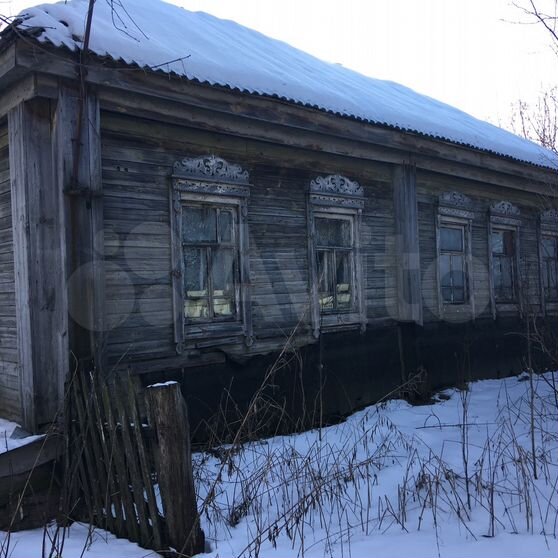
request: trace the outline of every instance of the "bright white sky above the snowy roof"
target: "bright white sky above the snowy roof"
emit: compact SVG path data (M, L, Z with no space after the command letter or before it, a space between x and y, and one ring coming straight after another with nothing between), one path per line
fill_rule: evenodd
M0 0L0 13L15 15L37 3ZM503 127L515 100L533 102L541 88L558 83L558 62L545 33L518 24L525 17L510 0L172 3L234 19L319 58L397 81Z

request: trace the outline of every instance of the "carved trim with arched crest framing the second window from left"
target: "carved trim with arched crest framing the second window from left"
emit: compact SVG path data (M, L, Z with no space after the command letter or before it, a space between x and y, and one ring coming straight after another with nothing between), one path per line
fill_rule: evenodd
M361 255L361 217L364 209L364 190L349 178L332 174L318 176L310 182L307 204L308 259L311 297L311 318L314 337L320 332L339 329L366 329L366 302L364 298L364 273ZM350 311L322 313L318 293L318 271L315 217L349 218L353 234L354 306Z

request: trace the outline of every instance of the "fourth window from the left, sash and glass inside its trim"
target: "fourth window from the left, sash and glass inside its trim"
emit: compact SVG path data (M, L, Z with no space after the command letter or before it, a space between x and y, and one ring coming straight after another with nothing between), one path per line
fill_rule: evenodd
M515 300L515 231L492 230L492 284L496 302Z

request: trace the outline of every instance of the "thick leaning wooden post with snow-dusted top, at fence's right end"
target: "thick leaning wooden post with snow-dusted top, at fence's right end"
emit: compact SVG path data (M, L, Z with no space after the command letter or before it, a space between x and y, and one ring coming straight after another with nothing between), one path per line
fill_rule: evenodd
M192 476L188 411L180 385L149 386L147 405L157 436L157 472L169 544L180 555L193 556L204 551L205 541Z

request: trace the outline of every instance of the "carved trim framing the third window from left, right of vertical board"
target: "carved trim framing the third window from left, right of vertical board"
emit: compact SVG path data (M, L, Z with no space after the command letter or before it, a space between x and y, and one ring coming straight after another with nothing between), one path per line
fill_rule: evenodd
M438 215L436 220L436 257L438 258L436 265L436 282L438 294L438 312L443 318L445 312L449 308L470 307L471 319L475 319L475 286L473 274L473 256L472 256L472 223L475 218L473 202L471 198L461 192L448 191L440 194L438 197ZM463 230L463 242L465 243L465 302L448 303L444 302L442 296L442 278L440 275L440 228L459 227ZM446 310L447 308L447 310Z

